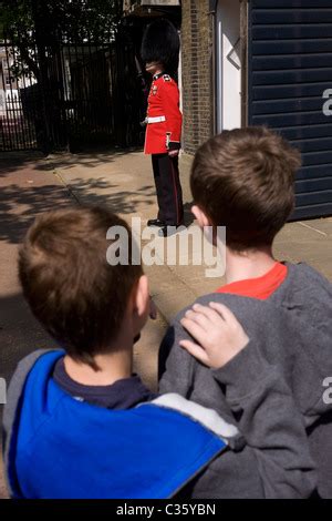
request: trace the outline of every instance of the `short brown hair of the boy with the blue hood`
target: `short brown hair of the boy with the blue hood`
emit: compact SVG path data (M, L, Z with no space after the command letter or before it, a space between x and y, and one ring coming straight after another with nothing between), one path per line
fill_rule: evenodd
M128 233L128 265L106 260L112 226ZM20 280L33 314L71 357L95 369L93 356L116 338L143 273L131 263L131 244L122 218L101 207L81 207L38 217L20 249Z

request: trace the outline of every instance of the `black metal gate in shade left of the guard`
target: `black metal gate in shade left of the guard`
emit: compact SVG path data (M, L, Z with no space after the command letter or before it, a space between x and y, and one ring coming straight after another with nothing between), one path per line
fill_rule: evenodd
M128 38L31 52L38 75L0 43L0 151L141 144L144 96Z

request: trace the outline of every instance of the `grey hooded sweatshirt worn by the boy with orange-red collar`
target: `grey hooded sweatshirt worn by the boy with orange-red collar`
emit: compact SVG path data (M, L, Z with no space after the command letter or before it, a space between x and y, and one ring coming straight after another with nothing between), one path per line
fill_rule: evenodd
M209 467L194 486L195 498L304 497L305 487L293 490L293 496L289 492L292 463L289 458L288 468L282 450L298 429L299 416L305 437L298 436L293 450L304 458L302 483L308 479L309 450L318 472L317 490L332 498L332 403L324 399L324 381L332 377L332 285L305 264L287 266L286 280L267 300L229 294L197 299L228 306L250 338L221 369L205 367L179 347L180 339L189 338L179 320L191 306L175 317L163 339L160 392L178 392L236 420L247 442ZM280 407L281 396L289 394L292 399ZM269 407L261 415L263 400Z

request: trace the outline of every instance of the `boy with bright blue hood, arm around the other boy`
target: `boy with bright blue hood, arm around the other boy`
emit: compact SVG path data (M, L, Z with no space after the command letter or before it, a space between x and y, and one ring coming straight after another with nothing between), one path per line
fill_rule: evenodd
M23 293L62 349L29 355L9 387L4 462L13 498L167 498L199 483L219 454L241 453L234 425L175 394L157 397L133 375L149 294L132 253L128 226L103 208L51 212L28 232L19 262ZM234 357L249 338L229 310L219 313L218 341ZM258 422L268 417L268 436L256 440L250 471L264 477L261 497L307 497L315 472L301 417L278 370L270 379L256 408Z

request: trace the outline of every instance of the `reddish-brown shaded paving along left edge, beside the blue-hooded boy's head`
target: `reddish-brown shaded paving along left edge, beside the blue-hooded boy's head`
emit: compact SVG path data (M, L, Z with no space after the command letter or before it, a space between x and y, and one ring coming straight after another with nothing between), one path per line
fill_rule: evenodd
M39 347L54 346L21 295L18 246L39 213L72 204L72 200L54 176L44 173L38 154L1 155L0 165L0 377L8 381L20 358ZM1 470L0 458L0 498L6 497Z

